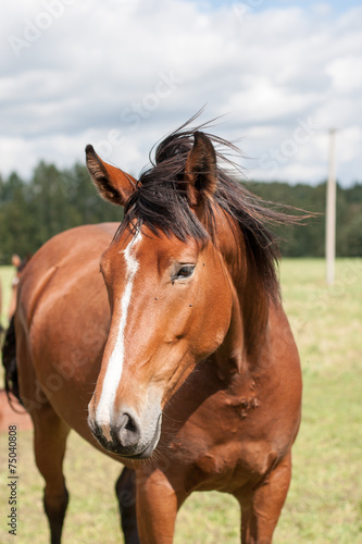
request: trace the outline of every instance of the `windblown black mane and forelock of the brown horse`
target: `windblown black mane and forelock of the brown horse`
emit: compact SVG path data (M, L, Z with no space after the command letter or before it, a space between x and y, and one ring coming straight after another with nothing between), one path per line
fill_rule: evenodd
M141 173L137 188L126 203L125 217L116 236L127 227L137 230L141 225L147 225L154 234L162 231L184 242L190 237L200 243L213 238L215 233L212 207L209 206L207 210L205 228L190 210L183 185L186 159L194 145L195 132L205 127L202 125L189 128L188 125L189 122L157 146L151 168ZM219 164L228 163L235 166L219 149L224 148L234 152L238 149L229 141L205 132L204 134L214 144ZM253 259L264 287L272 297L277 296L276 263L279 250L277 237L266 224L298 223L300 218L283 213L273 208L271 202L262 201L240 185L235 174L221 166L217 168L214 201L237 222L248 257ZM230 221L230 225L232 223Z

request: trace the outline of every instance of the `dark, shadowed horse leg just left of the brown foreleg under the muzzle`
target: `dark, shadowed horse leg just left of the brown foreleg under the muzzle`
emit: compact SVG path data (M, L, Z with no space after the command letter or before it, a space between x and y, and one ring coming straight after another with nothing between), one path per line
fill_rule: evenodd
M136 474L125 467L116 481L115 493L120 504L121 527L125 544L139 544L136 517Z

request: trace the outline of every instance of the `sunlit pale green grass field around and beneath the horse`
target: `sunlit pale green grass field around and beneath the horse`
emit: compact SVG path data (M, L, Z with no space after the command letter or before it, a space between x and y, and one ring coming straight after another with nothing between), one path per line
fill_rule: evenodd
M357 544L362 542L362 259L337 261L336 283L329 288L322 260L286 260L280 272L302 360L304 396L292 483L274 542ZM0 275L9 285L11 269L0 268ZM18 534L8 534L7 435L0 440L0 542L47 544L42 481L30 432L18 435ZM113 492L118 472L115 461L71 435L64 544L122 542ZM236 544L238 527L234 498L196 493L178 515L175 543Z

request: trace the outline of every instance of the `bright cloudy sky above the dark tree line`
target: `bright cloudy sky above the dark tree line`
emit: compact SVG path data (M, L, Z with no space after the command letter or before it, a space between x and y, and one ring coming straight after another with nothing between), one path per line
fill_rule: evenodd
M246 176L362 181L362 3L16 0L1 8L0 172L67 166L91 143L134 175L205 106Z

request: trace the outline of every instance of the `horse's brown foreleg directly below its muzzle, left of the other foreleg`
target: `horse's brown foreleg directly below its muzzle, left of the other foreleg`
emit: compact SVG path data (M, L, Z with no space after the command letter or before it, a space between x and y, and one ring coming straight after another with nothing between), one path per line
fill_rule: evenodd
M137 524L141 544L171 544L177 510L185 496L176 494L163 472L137 471Z

